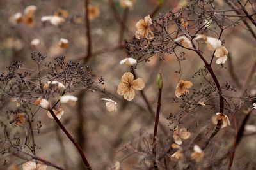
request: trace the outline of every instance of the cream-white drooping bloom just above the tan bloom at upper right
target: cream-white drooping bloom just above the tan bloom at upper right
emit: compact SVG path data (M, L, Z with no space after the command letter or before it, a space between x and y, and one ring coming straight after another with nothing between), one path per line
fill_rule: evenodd
M211 36L205 36L203 34L196 35L195 40L202 39L206 44L209 50L214 51L217 48L221 47L220 39L213 38Z

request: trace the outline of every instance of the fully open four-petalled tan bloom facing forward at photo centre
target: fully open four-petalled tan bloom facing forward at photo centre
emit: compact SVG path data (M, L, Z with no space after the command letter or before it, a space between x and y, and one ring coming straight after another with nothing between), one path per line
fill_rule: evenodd
M135 90L142 90L145 87L145 83L141 78L134 80L134 76L130 72L124 73L121 83L117 87L117 93L124 96L124 99L131 101L135 96Z

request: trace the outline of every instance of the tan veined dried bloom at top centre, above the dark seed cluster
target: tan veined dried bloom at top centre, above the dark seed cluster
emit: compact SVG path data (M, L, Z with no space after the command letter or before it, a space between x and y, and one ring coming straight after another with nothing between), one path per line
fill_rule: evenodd
M150 28L150 25L152 25L152 20L149 15L146 16L144 20L139 20L136 24L137 31L135 32L135 37L137 39L153 39L154 34Z

